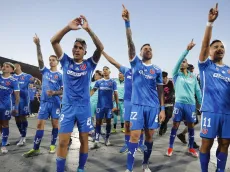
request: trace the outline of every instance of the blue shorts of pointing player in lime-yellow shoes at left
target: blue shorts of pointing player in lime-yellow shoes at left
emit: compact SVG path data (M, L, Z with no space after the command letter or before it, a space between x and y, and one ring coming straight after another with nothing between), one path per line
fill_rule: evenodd
M49 117L52 119L58 119L60 115L60 103L51 103L41 101L39 111L38 111L38 119L46 120Z

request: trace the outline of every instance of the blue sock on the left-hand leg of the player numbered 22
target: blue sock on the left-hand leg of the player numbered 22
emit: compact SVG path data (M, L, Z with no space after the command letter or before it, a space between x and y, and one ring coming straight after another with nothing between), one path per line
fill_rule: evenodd
M129 148L129 152L127 154L127 169L129 171L133 171L134 156L138 148L138 143L129 142L128 148Z

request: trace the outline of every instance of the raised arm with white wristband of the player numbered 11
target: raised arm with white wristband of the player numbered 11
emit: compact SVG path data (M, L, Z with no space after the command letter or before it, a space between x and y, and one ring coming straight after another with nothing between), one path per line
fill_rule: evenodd
M212 37L212 26L213 22L218 17L218 3L216 3L215 8L210 9L209 15L208 15L208 23L205 29L204 38L202 41L201 51L199 60L201 62L205 61L209 56L209 44Z

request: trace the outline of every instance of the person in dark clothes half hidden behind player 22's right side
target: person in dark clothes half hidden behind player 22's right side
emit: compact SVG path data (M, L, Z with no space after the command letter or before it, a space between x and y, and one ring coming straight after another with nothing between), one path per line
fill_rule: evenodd
M165 97L165 121L162 122L159 130L159 135L162 136L167 131L167 124L172 117L173 106L175 103L175 90L173 82L168 78L168 73L163 71L163 88L164 88L164 97Z

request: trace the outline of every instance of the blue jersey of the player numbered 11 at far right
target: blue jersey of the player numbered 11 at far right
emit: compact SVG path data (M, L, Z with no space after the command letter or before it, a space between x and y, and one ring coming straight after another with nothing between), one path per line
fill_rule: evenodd
M198 64L202 87L201 111L230 115L230 68L209 58Z

